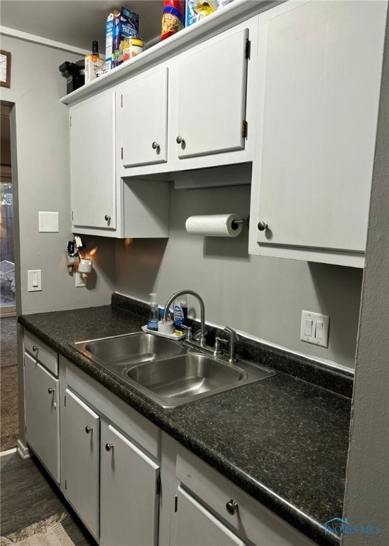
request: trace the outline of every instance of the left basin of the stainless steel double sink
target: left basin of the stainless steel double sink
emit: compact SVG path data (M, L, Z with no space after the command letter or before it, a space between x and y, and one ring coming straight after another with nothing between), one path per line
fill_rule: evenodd
M122 367L155 358L165 358L183 352L182 345L151 333L128 333L124 336L99 338L90 341L70 343L87 358L108 367Z

